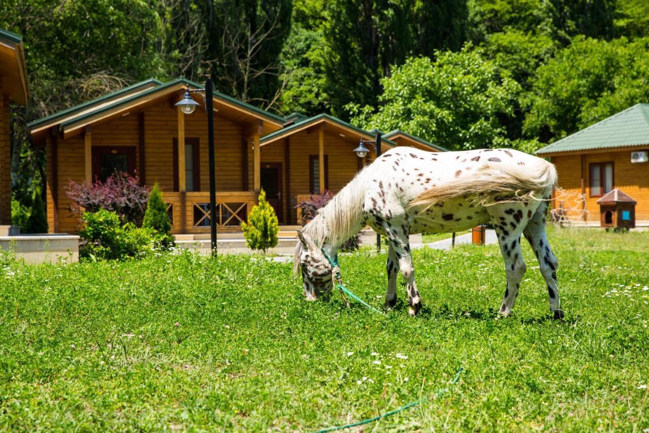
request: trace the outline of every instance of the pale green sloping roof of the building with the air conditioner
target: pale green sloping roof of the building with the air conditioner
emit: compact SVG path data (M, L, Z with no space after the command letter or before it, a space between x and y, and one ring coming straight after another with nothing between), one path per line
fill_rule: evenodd
M649 104L636 104L536 151L568 152L649 144Z

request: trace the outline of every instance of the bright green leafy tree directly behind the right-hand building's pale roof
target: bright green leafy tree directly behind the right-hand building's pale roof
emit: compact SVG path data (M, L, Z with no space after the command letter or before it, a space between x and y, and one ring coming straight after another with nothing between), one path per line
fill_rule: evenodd
M649 101L648 74L649 38L576 38L537 71L524 131L547 142Z

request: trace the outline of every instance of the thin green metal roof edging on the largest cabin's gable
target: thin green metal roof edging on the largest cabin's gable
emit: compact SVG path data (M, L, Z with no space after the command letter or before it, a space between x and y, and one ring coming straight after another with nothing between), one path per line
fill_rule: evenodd
M108 111L110 109L113 109L114 107L118 107L119 105L127 104L131 101L134 101L138 98L141 98L143 96L148 96L154 92L159 92L160 90L164 90L165 88L173 87L178 84L185 84L189 85L195 88L201 88L202 86L199 85L198 83L194 83L193 81L190 81L188 79L185 79L183 77L180 77L178 79L169 81L167 83L162 83L162 81L154 80L154 79L149 79L146 81L141 81L140 83L136 83L132 86L125 87L121 90L117 90L117 92L113 92L111 94L108 94L106 96L102 96L101 98L93 99L92 101L88 101L86 103L82 103L80 105L75 105L75 107L70 107L69 109L66 109L64 111L56 112L55 114L51 114L50 116L34 120L33 122L27 124L28 127L33 128L37 127L38 125L42 125L46 122L51 122L53 120L56 120L57 118L62 118L64 116L67 116L69 114L73 114L75 112L83 111L84 109L90 108L93 105L99 105L99 103L102 103L104 101L110 101L110 99L117 98L123 94L127 94L128 92L134 90L134 88L137 88L138 86L143 86L149 83L155 83L156 86L153 88L150 88L148 90L145 90L144 92L140 92L137 94L134 94L133 96L130 96L129 98L121 99L119 101L116 101L115 103L108 104L104 107L98 108L97 110L93 110L90 112L86 112L84 114L80 114L79 116L76 116L74 118L71 118L70 120L67 120L67 122L64 122L61 124L62 129L65 129L67 126L75 124L77 122L80 122L81 120L84 120L86 118L89 118L91 116L95 116L96 114L99 114L104 111ZM263 111L262 109L259 109L257 107L254 107L253 105L250 105L248 103L239 101L238 99L232 98L231 96L227 96L225 94L222 94L221 92L214 92L215 98L223 99L225 101L228 101L234 105L238 105L239 107L246 109L247 111L252 111L256 112L258 114L261 114L262 116L265 116L266 118L269 118L271 120L275 120L276 122L280 124L284 124L286 120L283 117L276 116L275 114L272 114L267 111Z

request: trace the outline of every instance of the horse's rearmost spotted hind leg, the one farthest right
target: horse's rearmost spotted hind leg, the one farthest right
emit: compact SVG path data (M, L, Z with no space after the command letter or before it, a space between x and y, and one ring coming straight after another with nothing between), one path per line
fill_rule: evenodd
M548 203L541 203L539 209L534 213L532 220L523 231L526 239L532 246L532 250L539 261L539 270L548 286L548 297L550 298L550 311L554 319L563 319L563 310L559 300L559 287L557 286L557 269L559 261L552 254L552 249L545 235L545 218L548 211Z

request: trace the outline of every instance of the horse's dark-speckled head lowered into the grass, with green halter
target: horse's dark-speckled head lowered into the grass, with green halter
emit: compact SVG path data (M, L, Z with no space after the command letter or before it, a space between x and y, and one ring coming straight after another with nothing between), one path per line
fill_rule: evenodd
M300 242L295 246L293 272L302 273L302 288L306 300L316 300L320 296L329 300L334 285L331 263L309 235L298 230L297 237Z

